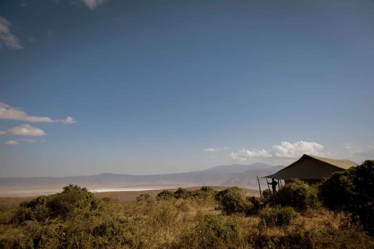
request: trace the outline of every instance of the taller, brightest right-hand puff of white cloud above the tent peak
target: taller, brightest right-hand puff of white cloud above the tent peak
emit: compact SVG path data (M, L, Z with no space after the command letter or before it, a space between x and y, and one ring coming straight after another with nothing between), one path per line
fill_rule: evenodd
M274 145L272 154L278 158L298 158L303 154L314 156L321 155L324 146L315 142L298 141L295 143L288 143L282 141L281 145Z

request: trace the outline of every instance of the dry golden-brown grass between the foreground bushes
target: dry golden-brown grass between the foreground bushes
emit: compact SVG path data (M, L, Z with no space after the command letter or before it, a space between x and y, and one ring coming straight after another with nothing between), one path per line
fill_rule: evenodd
M251 194L248 190L244 191L246 195ZM246 217L243 213L236 213L222 216L217 209L218 203L211 197L156 200L154 197L159 192L161 190L96 193L96 197L110 198L106 199L105 210L101 215L87 219L77 214L65 220L57 218L46 222L27 221L20 225L8 223L9 217L17 210L20 202L30 198L0 198L0 248L1 245L3 248L14 245L19 248L20 244L17 246L15 242L23 243L28 248L27 243L30 241L37 243L36 248L248 249L374 246L373 239L361 231L356 233L352 230L348 233L350 230L339 230L344 215L325 209L307 210L288 226L261 227L256 215ZM144 193L150 194L152 198L135 201L136 197ZM100 226L105 229L102 233L95 234L95 229ZM331 243L337 240L334 234L338 234L339 240L343 242ZM290 246L289 243L294 244ZM353 243L356 247L352 246Z

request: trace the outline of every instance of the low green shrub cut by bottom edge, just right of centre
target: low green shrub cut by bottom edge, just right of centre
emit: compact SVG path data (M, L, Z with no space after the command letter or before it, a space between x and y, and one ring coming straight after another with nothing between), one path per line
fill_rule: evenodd
M238 222L222 215L198 215L196 225L184 231L178 248L236 248L239 240Z

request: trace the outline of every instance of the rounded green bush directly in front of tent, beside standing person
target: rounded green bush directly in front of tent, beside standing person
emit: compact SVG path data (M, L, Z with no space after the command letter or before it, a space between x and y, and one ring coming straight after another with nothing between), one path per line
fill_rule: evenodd
M318 205L317 189L295 179L270 196L269 202L272 206L291 206L296 211L302 212Z

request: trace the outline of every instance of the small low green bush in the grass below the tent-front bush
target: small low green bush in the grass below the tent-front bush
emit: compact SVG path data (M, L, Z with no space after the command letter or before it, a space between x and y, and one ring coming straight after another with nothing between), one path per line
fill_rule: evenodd
M299 216L291 207L265 207L259 212L260 222L263 226L281 226L289 225L292 220Z

